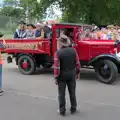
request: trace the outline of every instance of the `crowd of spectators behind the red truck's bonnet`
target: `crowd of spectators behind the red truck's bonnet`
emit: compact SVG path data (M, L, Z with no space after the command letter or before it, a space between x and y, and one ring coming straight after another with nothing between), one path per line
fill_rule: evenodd
M95 26L95 28L92 30L86 29L84 32L82 32L80 38L120 40L120 27L109 25L100 29L99 27Z

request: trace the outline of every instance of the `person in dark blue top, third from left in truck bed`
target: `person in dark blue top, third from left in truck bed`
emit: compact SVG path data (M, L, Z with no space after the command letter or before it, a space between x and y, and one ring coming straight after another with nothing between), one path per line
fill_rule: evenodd
M35 32L35 38L36 39L43 39L44 35L45 35L45 33L44 33L44 30L43 30L42 24L37 23L36 32Z

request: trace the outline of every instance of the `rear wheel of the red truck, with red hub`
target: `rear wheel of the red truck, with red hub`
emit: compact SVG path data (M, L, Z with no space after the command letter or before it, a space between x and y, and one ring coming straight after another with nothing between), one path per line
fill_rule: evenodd
M24 67L24 64L26 62L26 67ZM36 64L34 59L28 55L22 55L18 59L18 68L20 72L24 75L31 75L36 70Z

